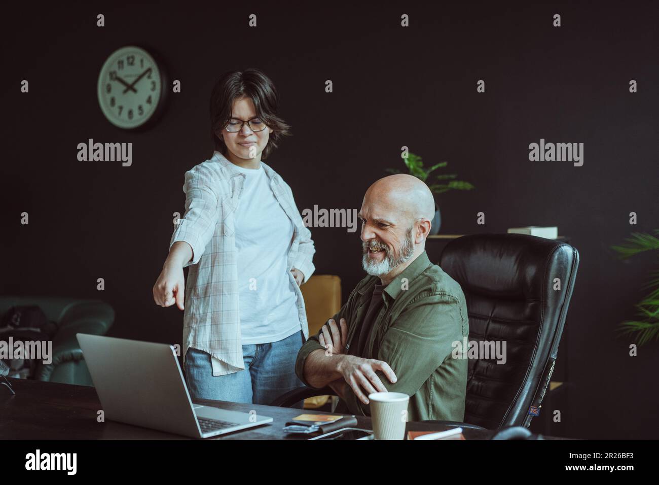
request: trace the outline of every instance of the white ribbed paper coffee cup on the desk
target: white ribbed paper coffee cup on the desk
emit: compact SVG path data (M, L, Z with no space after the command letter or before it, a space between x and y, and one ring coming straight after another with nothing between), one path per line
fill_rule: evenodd
M403 393L372 393L368 395L371 424L375 439L404 439L407 424L407 403Z

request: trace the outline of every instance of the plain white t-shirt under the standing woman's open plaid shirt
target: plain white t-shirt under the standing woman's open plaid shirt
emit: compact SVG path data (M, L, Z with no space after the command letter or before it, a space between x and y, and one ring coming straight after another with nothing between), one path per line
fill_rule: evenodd
M293 221L262 166L236 168L245 174L234 218L241 343L277 342L302 329L287 267Z

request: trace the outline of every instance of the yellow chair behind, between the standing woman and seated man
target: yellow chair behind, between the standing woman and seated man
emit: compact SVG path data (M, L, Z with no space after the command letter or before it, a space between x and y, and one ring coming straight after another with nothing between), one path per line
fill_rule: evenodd
M336 275L314 275L300 289L304 296L309 337L316 335L328 319L341 309L341 278ZM329 396L315 396L304 400L305 409L324 406Z

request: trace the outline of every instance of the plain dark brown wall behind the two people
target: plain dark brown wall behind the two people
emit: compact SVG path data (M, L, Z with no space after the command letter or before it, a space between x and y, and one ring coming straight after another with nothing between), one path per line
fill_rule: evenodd
M428 164L447 160L449 172L476 185L441 197L442 232L556 225L571 236L581 266L558 370L573 384L561 410L568 433L656 438L658 343L631 358L634 340L615 333L633 316L656 256L622 263L609 249L632 231L659 227L656 3L337 5L3 7L0 291L102 298L117 311L110 335L180 342L183 313L156 306L152 286L172 213L183 212L183 174L212 154L215 79L258 67L275 82L294 133L266 162L293 187L301 210L358 209L366 187L402 165L406 145ZM247 27L250 13L258 28ZM411 16L409 28L399 26L401 13ZM225 47L233 37L240 46ZM115 129L96 99L105 57L133 42L155 46L183 88L142 134ZM29 94L20 93L22 79ZM485 94L476 93L478 79ZM78 162L76 145L88 138L132 142L132 166ZM540 138L584 143L584 165L530 162L528 145ZM23 211L29 226L19 223ZM476 225L480 211L485 226ZM358 234L312 234L317 273L341 276L345 298L363 275ZM435 261L440 247L428 245Z

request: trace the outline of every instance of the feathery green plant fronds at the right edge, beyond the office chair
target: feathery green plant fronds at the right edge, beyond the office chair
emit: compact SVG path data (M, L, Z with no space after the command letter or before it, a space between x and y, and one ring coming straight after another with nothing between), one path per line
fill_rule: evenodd
M659 229L655 229L654 234L659 236ZM659 239L652 234L633 232L631 237L625 241L627 243L611 246L614 251L617 251L620 259L645 251L659 250ZM637 315L641 319L625 320L620 323L618 328L622 333L636 333L639 346L652 339L659 339L659 271L651 271L650 276L654 279L643 286L643 288L650 288L650 293L635 305L638 309Z

